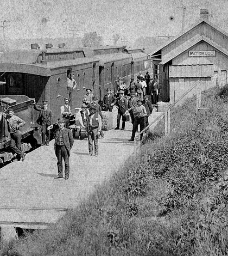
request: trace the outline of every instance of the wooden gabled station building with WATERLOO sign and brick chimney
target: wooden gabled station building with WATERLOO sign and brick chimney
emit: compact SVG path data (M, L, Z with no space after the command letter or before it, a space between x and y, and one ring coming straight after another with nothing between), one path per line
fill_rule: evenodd
M200 20L185 32L149 54L154 77L161 84L161 100L174 103L195 82L199 88L228 83L228 34L208 21L208 10L200 10Z

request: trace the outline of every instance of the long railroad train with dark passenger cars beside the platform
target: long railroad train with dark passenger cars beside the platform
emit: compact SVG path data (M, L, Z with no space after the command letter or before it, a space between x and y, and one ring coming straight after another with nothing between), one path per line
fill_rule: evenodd
M9 106L18 117L26 121L22 128L24 151L31 142L41 144L38 117L31 103L49 102L53 120L60 117L60 107L67 95L66 81L69 73L74 74L77 88L72 93L72 108L80 107L86 89L90 88L102 100L107 88L114 90L118 77L129 83L138 72L144 75L151 64L142 49L125 46L102 46L97 48L69 49L65 44L58 48L46 44L45 49L32 44L30 50L12 50L0 56L0 105L3 112ZM0 162L10 161L8 153L10 137L7 124L1 118ZM31 145L33 147L33 145Z

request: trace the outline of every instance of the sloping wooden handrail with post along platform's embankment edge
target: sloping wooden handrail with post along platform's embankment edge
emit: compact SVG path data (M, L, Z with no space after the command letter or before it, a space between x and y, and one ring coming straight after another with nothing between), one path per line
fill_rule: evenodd
M180 101L183 99L183 97L185 97L189 92L191 92L199 83L200 83L200 81L197 80L197 82L195 82L195 83L193 84L193 86L192 86L191 88L189 88L189 89L187 90L187 92L184 93L184 94L180 97L180 99L178 99L176 102L174 102L172 105L170 105L170 106L168 107L168 109L167 109L166 112L164 112L164 113L161 114L159 117L157 117L156 119L154 119L153 121L151 121L151 123L150 123L147 127L145 127L145 128L137 135L137 141L140 141L140 136L141 136L141 134L142 134L143 132L147 131L151 125L155 124L157 121L160 121L160 119L162 119L163 117L165 118L164 133L165 133L165 135L168 135L168 134L170 133L170 116L171 116L170 110L171 110L171 108L174 107L174 106L176 105L176 103L180 102Z

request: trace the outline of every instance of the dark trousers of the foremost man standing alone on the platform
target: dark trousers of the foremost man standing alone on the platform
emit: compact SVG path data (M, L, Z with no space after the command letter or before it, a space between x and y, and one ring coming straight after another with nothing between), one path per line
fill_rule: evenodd
M62 159L65 162L65 178L69 178L69 155L65 145L56 145L56 155L57 155L57 166L58 166L58 176L62 177Z

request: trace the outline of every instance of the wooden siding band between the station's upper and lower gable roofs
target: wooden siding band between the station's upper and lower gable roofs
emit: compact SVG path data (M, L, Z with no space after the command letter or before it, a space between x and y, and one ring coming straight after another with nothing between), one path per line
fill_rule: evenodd
M205 22L200 23L198 26L192 28L187 33L180 36L180 38L171 42L169 45L162 49L162 58L166 58L166 54L175 51L176 48L185 46L189 41L197 35L205 35L208 39L216 42L221 47L228 50L228 38L224 34L217 31L217 29L211 27Z

